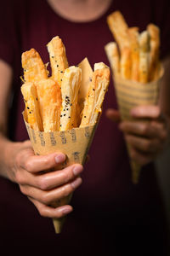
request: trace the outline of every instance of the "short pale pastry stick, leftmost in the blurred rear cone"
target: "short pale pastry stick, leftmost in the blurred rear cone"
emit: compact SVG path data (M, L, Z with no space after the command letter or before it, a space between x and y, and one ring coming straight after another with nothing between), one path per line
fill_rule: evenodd
M111 69L115 75L120 72L120 56L115 42L105 45L105 53L110 61Z

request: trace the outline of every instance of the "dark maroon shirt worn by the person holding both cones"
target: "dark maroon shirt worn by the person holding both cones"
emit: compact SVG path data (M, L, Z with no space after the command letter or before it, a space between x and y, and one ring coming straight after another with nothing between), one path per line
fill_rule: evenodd
M120 9L128 26L144 30L149 22L161 27L161 56L168 54L170 27L166 1L113 1L111 8L98 20L86 23L70 22L54 13L45 0L5 1L0 11L0 58L13 67L13 97L9 114L9 137L14 141L28 138L21 112L24 103L20 94L20 56L34 48L48 62L46 44L56 35L62 38L70 65L84 57L94 67L95 62L109 65L105 44L113 41L106 16ZM167 22L168 21L168 22ZM147 248L164 255L166 228L161 194L153 166L146 166L139 184L131 182L127 149L116 124L105 117L106 108L117 108L111 82L105 96L103 114L99 121L91 156L82 174L83 183L73 195L71 213L60 235L54 234L51 219L42 218L18 185L0 178L0 232L3 245L21 243L41 248L56 247L56 252L75 255L131 253L135 244L141 255ZM31 239L30 239L31 236ZM123 246L122 246L123 244ZM124 251L125 250L125 251ZM133 251L134 250L134 251ZM142 253L143 252L143 253ZM60 254L59 254L60 255ZM124 254L123 254L124 255Z

